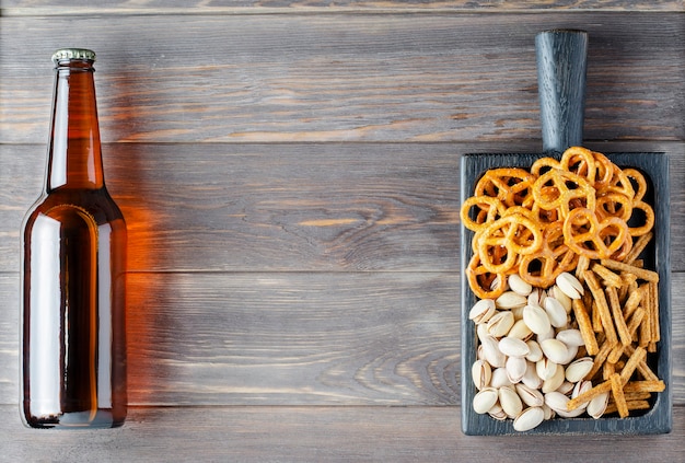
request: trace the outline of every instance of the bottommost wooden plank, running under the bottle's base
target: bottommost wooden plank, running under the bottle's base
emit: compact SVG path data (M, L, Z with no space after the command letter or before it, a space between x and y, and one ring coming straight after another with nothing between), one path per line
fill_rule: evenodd
M685 409L660 436L467 437L446 407L136 408L123 428L25 429L0 406L7 461L678 462ZM560 456L562 455L562 456Z

